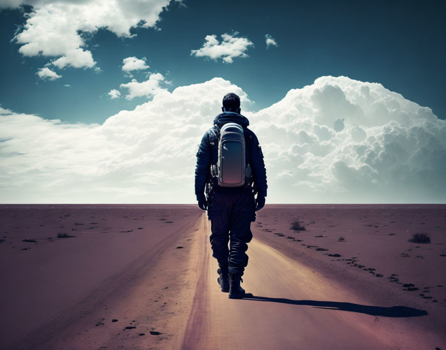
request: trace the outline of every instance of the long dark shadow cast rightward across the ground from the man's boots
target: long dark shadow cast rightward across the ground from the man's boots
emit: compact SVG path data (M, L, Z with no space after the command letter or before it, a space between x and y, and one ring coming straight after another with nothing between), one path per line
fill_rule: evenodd
M255 301L269 301L273 303L291 304L291 305L309 305L318 309L326 310L341 310L358 312L361 314L373 315L373 316L385 316L385 317L416 317L428 315L425 310L418 310L407 306L370 306L360 305L353 303L342 303L337 301L318 301L318 300L292 300L285 298L268 298L265 296L255 296L251 293L246 293L243 300L255 300Z

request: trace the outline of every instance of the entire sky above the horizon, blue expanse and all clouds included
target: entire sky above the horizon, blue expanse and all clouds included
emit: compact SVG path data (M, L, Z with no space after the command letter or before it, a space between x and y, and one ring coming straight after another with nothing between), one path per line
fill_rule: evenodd
M1 0L0 201L194 203L235 92L267 203L446 203L444 7Z

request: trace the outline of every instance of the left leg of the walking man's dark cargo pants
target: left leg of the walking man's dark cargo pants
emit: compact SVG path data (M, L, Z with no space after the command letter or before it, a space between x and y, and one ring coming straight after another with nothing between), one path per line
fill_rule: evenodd
M226 264L229 257L229 217L230 198L222 193L214 193L211 208L208 208L208 218L211 220L211 248L212 256L220 264Z

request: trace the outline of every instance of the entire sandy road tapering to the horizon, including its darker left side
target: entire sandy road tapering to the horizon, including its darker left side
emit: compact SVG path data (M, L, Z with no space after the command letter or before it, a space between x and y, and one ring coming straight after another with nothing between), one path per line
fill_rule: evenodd
M242 283L251 295L228 299L217 283L206 213L190 219L14 349L445 348L438 335L407 322L423 310L371 305L256 239Z

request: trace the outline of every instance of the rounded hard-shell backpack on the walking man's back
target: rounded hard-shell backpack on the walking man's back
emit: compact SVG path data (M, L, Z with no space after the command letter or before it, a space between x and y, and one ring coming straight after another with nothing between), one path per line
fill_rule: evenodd
M220 129L217 161L218 184L238 187L245 184L246 160L243 127L226 123Z

